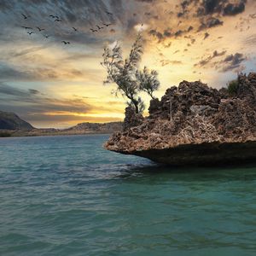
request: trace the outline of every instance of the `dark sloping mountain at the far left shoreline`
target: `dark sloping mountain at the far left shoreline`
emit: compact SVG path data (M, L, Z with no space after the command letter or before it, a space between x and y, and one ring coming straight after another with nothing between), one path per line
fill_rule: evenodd
M34 127L18 115L0 111L0 130L32 130Z

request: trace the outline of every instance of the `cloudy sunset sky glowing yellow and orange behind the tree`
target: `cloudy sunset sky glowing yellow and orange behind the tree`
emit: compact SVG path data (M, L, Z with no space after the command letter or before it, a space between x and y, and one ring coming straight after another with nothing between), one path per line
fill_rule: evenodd
M38 128L124 119L100 63L114 42L128 55L140 29L159 98L183 80L219 89L256 71L255 0L1 0L0 22L0 110Z

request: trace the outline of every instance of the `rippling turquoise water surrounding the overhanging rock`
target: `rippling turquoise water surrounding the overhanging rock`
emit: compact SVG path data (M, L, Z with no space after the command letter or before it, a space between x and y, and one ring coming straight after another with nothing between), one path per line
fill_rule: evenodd
M108 152L108 136L0 139L0 255L256 255L256 168Z

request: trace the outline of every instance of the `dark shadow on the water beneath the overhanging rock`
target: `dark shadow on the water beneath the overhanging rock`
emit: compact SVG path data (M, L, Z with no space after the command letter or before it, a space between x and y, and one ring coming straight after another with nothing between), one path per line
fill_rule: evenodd
M146 183L148 180L158 182L163 178L196 182L203 180L250 181L256 179L256 163L221 166L170 166L152 162L146 166L125 165L125 169L122 169L119 174L113 175L113 178L129 182L137 180L140 183L143 183L143 180Z

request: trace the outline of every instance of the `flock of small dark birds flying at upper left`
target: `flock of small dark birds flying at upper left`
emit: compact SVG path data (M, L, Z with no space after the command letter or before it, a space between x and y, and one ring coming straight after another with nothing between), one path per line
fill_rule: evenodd
M105 12L108 16L111 16L111 17L113 16L112 13L110 13L108 11L105 11ZM31 18L31 15L24 15L24 14L21 14L21 15L23 16L24 20L29 20L29 18ZM49 18L51 18L54 22L62 21L61 18L57 15L49 15ZM108 26L113 26L113 24L102 22L102 25L96 25L95 27L91 27L90 32L94 32L94 33L100 32L102 29L108 28ZM32 26L21 26L21 27L26 30L26 33L28 35L32 35L32 34L36 33L35 30L38 30L38 32L46 32L46 30L44 28L39 27L39 26L35 26L34 28ZM79 29L74 26L72 27L72 29L74 32L79 32ZM44 38L49 38L48 34L44 33L43 35L44 35ZM65 41L65 40L62 40L61 43L62 44L71 44L69 41Z

